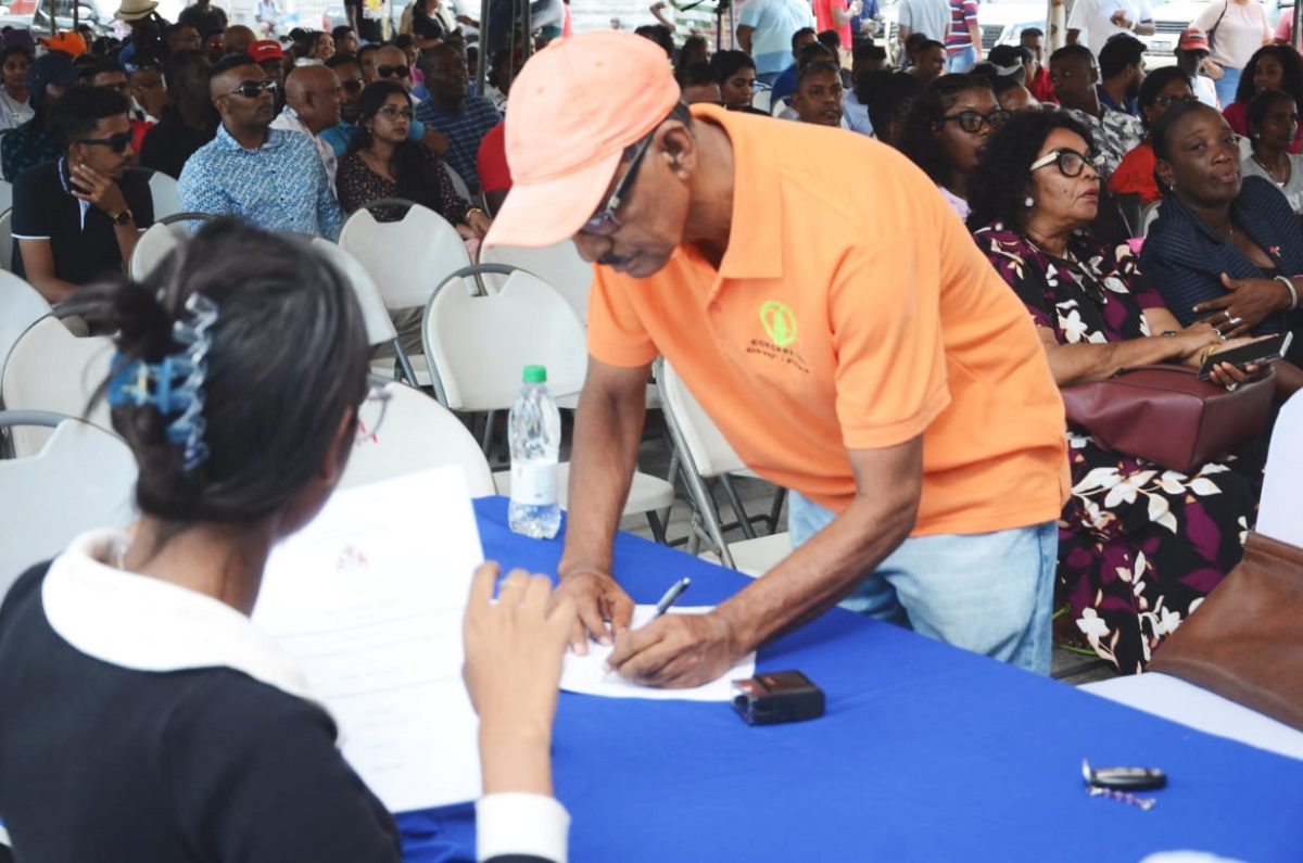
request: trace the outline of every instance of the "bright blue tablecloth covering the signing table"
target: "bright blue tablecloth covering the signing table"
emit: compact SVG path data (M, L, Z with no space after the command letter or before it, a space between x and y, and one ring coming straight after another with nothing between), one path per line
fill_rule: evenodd
M554 572L560 540L476 502L485 555ZM709 605L745 576L632 536L640 602L692 576ZM562 694L552 755L575 863L1139 860L1191 849L1303 860L1303 761L1139 713L912 632L833 610L760 652L827 695L804 724L749 727L726 704ZM1147 765L1149 810L1087 797L1081 759ZM409 860L473 859L469 806L399 816Z

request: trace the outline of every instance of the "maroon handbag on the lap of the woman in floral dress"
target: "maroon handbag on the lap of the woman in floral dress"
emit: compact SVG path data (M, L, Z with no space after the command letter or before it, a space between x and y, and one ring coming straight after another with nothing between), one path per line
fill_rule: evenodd
M1234 392L1183 365L1123 369L1061 391L1068 422L1104 448L1190 473L1267 430L1276 369Z

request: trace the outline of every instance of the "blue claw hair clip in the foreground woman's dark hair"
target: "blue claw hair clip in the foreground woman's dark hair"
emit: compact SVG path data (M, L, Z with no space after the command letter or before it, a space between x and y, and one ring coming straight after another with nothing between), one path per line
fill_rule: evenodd
M175 416L167 426L169 442L184 446L182 467L186 473L208 458L203 441L203 382L208 373L210 330L218 321L218 304L199 293L185 300L189 321L172 325L172 339L185 345L159 362L132 360L117 365L108 381L108 403L113 407L152 404L159 415Z

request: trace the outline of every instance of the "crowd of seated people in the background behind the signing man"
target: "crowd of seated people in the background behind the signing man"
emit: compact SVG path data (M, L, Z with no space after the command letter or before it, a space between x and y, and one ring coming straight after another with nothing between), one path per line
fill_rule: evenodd
M335 237L356 210L403 198L447 219L472 250L485 236L511 188L502 117L529 98L511 86L506 50L490 63L490 98L473 91L455 30L386 44L362 44L349 29L305 31L287 50L248 27L222 27L222 47L194 29L139 26L122 46L76 57L53 44L35 59L30 47L5 48L0 156L21 193L14 269L50 300L129 259L152 220L137 163L176 177L184 209L265 229ZM1182 35L1178 66L1154 72L1131 37L1109 39L1098 57L1084 44L1044 57L1042 34L1029 29L971 72L943 74L945 46L923 34L907 40L903 68L864 40L847 68L835 33L801 27L761 110L747 51L711 51L702 38L676 48L659 25L640 35L665 48L683 100L700 111L823 125L903 151L1027 305L1061 386L1136 362L1191 364L1303 325L1289 284L1303 272L1303 86L1287 46L1253 55L1222 116L1197 100L1197 31ZM40 190L63 203L38 219ZM1148 229L1114 218L1132 196L1157 207ZM1303 342L1289 360L1300 353ZM1283 395L1298 375L1278 365ZM1234 386L1240 373L1220 374ZM1081 429L1068 434L1059 596L1070 614L1059 635L1135 671L1238 561L1260 454L1160 476Z

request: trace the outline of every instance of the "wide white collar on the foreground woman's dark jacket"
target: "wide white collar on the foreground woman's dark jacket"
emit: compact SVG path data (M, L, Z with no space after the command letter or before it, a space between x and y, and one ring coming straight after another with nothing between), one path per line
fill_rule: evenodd
M137 671L235 669L327 709L293 657L236 609L104 562L128 542L121 531L91 531L50 564L40 601L60 637Z

